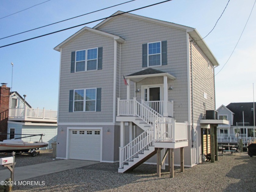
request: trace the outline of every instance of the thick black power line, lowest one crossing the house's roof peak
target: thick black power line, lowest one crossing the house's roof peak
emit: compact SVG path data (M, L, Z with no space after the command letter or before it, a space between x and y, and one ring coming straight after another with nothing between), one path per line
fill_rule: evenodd
M17 44L17 43L22 43L22 42L24 42L24 41L29 41L29 40L36 39L36 38L39 38L39 37L44 37L44 36L47 36L47 35L55 34L55 33L58 33L58 32L61 32L61 31L65 31L65 30L68 30L68 29L73 29L73 28L75 28L75 27L80 27L80 26L82 26L82 25L86 25L86 24L89 24L89 23L94 23L94 22L100 21L100 20L105 20L105 19L108 19L108 18L111 18L111 17L123 15L124 13L137 11L137 10L140 10L140 9L144 9L144 8L147 8L147 7L151 7L151 6L158 5L158 4L165 3L165 2L169 2L169 1L172 1L172 0L162 1L162 2L159 2L159 3L147 5L147 6L140 7L140 8L137 8L137 9L133 9L133 10L130 10L130 11L126 11L126 12L123 12L123 13L119 13L119 14L116 14L116 15L112 15L112 16L108 16L108 17L101 18L101 19L98 19L98 20L94 20L94 21L91 21L91 22L88 22L88 23L83 23L83 24L80 24L80 25L76 25L76 26L73 26L73 27L66 28L66 29L58 30L58 31L55 31L55 32L52 32L52 33L40 35L40 36L37 36L37 37L33 37L33 38L26 39L26 40L23 40L23 41L18 41L18 42L11 43L11 44L8 44L8 45L3 45L3 46L1 46L0 48L7 47L7 46L10 46L10 45L13 45L13 44Z

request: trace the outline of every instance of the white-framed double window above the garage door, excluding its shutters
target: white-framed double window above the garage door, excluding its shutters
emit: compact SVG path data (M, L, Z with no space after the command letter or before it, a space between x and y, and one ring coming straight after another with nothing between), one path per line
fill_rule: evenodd
M96 88L74 91L74 112L78 111L96 111Z

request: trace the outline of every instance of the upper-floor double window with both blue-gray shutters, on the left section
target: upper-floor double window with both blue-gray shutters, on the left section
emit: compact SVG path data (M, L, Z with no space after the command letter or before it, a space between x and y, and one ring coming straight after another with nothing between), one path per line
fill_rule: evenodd
M102 47L71 52L71 73L102 69Z

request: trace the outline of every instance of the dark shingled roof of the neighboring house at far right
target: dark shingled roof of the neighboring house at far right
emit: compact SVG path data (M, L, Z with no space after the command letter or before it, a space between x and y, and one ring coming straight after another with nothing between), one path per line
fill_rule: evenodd
M254 105L255 104L256 103L254 103ZM243 123L243 111L244 111L244 123L249 123L249 126L254 125L253 111L251 111L251 109L253 108L253 102L229 103L229 105L227 105L226 107L230 111L233 111L235 113L234 119L233 119L233 126L236 126L236 122Z

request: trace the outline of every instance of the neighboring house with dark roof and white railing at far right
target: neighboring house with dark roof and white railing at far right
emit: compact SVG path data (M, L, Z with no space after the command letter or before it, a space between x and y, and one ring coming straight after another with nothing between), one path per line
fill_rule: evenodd
M254 103L255 104L255 103ZM221 105L217 111L219 119L229 121L229 125L217 127L218 143L237 143L236 133L246 144L255 137L255 113L253 102L229 103Z

